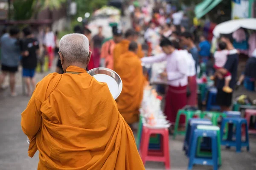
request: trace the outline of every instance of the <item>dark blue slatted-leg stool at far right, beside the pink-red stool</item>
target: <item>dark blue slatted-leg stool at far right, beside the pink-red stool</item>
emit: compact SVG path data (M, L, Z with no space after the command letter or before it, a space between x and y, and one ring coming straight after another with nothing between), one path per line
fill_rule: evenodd
M223 140L224 128L226 123L228 123L228 134L227 140ZM241 127L245 124L245 142L241 142ZM236 126L236 140L233 141L233 125ZM244 118L224 118L221 122L221 145L227 147L236 147L236 152L241 152L241 147L247 147L247 151L250 150L249 147L249 135L247 120Z

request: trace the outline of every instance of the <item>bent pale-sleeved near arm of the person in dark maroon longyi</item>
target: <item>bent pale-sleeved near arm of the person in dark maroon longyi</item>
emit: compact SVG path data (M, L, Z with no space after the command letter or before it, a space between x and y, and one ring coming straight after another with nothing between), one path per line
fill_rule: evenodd
M184 61L182 58L177 59L177 70L178 71L169 71L167 72L167 79L168 80L176 80L180 79L187 73L187 66L184 65L186 61Z

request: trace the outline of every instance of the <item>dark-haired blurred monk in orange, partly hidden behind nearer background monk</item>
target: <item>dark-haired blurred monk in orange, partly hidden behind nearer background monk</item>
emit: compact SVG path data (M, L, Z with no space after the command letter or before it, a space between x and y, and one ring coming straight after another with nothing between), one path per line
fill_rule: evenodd
M114 70L116 71L117 65L119 64L119 57L124 54L125 52L129 51L128 47L131 41L134 41L136 38L136 31L133 29L128 29L125 32L125 39L116 44L114 48ZM144 57L144 53L142 50L142 46L139 44L138 45L138 51L137 51L137 56L139 58Z

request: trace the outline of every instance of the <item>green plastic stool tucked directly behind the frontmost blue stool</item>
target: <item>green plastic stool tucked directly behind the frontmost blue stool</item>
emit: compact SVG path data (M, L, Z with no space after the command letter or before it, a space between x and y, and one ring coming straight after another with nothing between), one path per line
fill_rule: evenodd
M220 135L220 128L217 126L205 126L205 125L198 125L198 129L204 129L204 130L216 130L217 131L217 140L218 140L218 164L221 165L221 135ZM207 151L201 151L201 142L202 142L202 137L198 138L198 143L197 143L197 151L196 151L196 155L198 157L212 157L212 153L211 152L207 152Z

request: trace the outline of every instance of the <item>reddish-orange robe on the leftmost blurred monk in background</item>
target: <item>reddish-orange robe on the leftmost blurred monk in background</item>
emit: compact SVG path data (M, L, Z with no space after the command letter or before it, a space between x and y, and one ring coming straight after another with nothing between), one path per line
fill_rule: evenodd
M101 58L105 58L105 67L113 70L113 52L116 43L113 40L108 40L102 45Z

